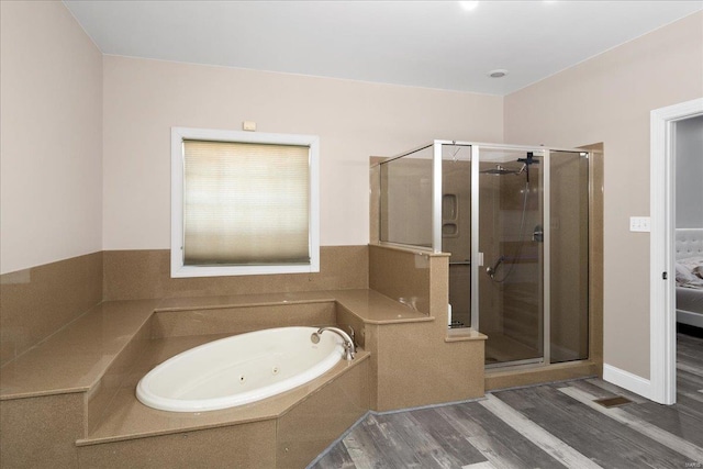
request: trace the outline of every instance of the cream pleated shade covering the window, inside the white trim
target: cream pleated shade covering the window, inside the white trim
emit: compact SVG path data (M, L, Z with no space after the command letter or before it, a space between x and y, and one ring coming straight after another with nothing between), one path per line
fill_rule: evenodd
M183 139L183 264L310 263L310 147Z

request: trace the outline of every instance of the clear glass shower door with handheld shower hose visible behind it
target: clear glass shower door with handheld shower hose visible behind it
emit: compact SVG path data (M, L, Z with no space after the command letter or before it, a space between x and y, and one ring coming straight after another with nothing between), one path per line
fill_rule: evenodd
M478 330L488 336L487 367L544 360L543 157L479 148Z

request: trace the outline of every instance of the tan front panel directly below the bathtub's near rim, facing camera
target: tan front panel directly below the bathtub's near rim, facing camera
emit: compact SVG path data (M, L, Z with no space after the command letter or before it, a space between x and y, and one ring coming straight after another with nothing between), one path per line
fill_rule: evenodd
M276 421L78 448L80 468L276 467Z

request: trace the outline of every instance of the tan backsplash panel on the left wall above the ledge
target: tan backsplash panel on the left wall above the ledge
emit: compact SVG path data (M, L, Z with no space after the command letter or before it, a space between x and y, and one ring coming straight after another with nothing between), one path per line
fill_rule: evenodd
M0 276L0 364L26 351L101 300L101 253Z

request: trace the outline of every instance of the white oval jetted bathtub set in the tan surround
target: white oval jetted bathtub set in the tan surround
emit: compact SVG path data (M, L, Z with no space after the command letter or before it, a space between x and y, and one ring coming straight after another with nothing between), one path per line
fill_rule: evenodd
M136 388L149 407L200 412L248 404L317 378L344 356L342 338L316 327L279 327L222 338L155 367Z

